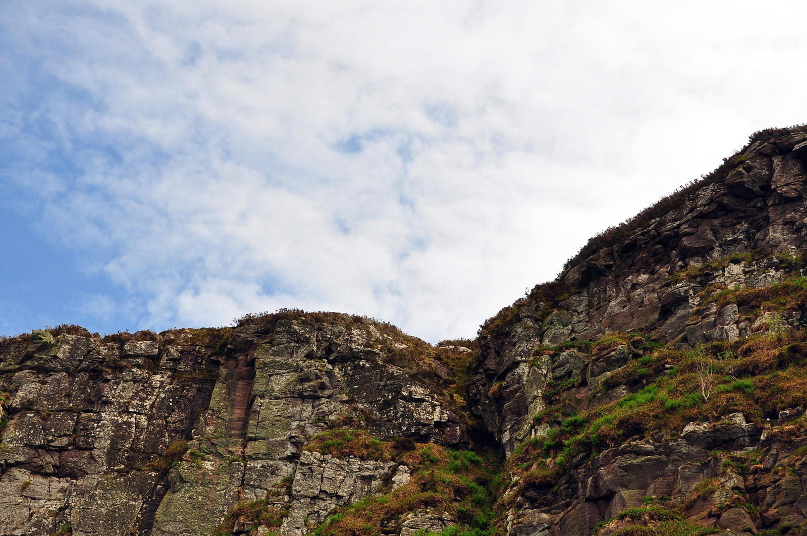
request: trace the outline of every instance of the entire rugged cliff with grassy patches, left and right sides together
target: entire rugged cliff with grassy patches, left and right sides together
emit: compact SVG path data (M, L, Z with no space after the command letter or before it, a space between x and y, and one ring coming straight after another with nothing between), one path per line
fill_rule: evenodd
M0 534L802 534L807 128L433 346L336 313L0 341Z

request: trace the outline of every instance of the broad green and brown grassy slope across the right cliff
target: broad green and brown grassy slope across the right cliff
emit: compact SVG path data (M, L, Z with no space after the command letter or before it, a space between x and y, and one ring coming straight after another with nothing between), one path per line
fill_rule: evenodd
M603 343L624 340L624 336L608 337ZM803 357L807 357L807 330L791 330L776 339L755 335L711 342L688 352L654 351L608 375L608 379L619 379L616 385L629 388L642 377L644 385L619 400L583 406L568 416L570 408L554 400L552 393L546 396L546 408L534 421L552 428L516 446L508 467L522 479L529 475L536 485L551 486L573 461L578 467L610 446L654 430L680 433L688 422L719 421L732 412L763 423L764 417L781 408L807 403L807 370L793 366L805 361ZM708 399L700 392L697 370L702 362L710 363L714 371L709 376L713 387ZM590 397L588 404L592 400L596 398ZM560 472L541 469L547 460L554 461L552 467ZM523 488L519 489L523 492Z

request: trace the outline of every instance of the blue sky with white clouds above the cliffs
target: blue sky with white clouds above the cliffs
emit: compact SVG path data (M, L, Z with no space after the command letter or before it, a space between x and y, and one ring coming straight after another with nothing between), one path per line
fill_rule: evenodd
M804 2L0 2L0 334L436 342L807 122Z

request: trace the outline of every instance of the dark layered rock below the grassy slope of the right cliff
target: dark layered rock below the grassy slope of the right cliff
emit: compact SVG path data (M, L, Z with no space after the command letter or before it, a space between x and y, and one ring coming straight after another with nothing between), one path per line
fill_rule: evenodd
M693 526L735 534L756 534L760 525L787 534L802 525L804 431L766 433L734 415L684 432L681 438L657 433L605 450L571 471L553 493L527 488L508 512L508 534L594 534L602 521L625 510L675 502L698 522ZM621 527L615 522L599 534Z

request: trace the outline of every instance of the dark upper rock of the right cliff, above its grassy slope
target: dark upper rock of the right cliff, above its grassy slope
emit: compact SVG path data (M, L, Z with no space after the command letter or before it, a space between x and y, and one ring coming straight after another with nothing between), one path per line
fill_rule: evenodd
M718 311L704 292L776 283L790 272L781 256L801 259L805 144L807 128L755 136L709 177L646 211L658 217L592 239L557 282L535 287L487 320L479 339L484 376L472 392L477 412L507 450L529 437L524 418L540 411L546 381L556 377L557 365L533 363L539 346L626 331L690 346L752 333L736 307ZM587 254L598 243L605 246ZM731 257L751 252L759 259ZM681 278L687 270L697 277ZM798 314L789 320L797 325ZM496 384L500 396L490 396Z

